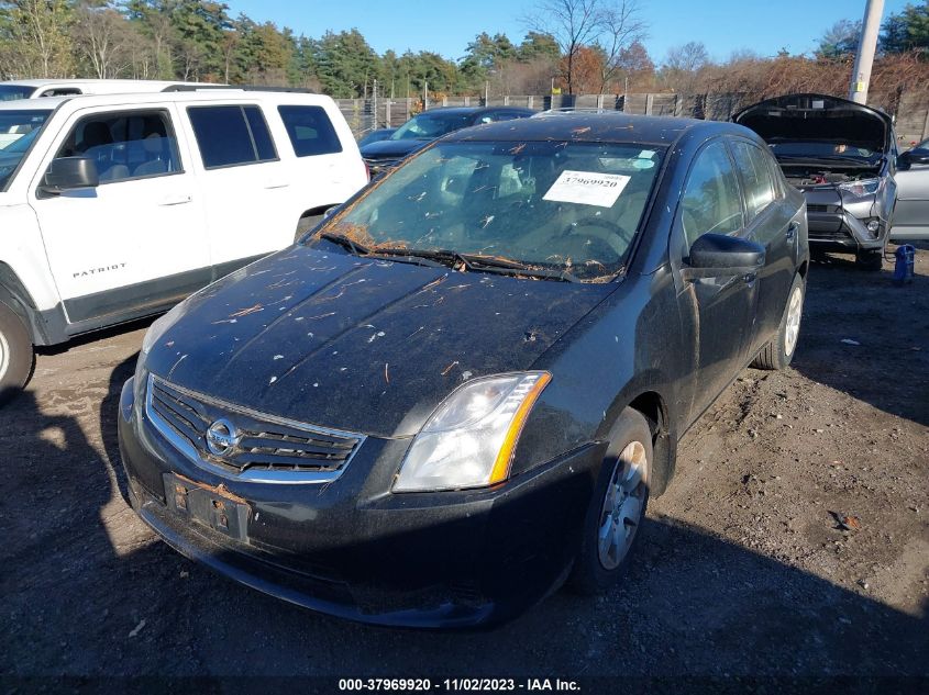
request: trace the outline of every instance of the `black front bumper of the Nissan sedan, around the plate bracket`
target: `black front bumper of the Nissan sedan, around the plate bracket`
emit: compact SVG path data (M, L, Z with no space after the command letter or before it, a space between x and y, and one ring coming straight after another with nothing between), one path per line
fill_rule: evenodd
M133 508L183 554L243 584L330 615L424 628L515 617L566 576L604 446L588 445L494 490L391 494L408 440L368 437L328 485L219 478L120 402ZM175 477L242 512L231 537L178 513Z

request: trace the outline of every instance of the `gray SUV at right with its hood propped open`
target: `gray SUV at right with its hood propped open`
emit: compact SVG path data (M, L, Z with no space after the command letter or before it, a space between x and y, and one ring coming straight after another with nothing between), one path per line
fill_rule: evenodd
M853 253L880 270L897 201L891 116L827 94L785 94L732 116L761 135L804 192L812 251Z

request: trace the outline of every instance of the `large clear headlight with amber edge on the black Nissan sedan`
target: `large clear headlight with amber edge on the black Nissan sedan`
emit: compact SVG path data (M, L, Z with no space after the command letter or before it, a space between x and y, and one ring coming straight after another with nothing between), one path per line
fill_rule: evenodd
M407 452L395 492L485 487L509 477L516 442L549 372L475 379L427 421Z

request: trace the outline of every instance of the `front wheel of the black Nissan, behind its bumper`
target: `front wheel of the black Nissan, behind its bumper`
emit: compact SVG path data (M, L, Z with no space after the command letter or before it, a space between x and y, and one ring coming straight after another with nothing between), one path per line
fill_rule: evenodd
M639 527L645 518L653 461L652 429L641 413L628 407L610 431L610 446L584 519L577 559L568 580L577 593L602 592L629 565L640 536ZM617 490L621 498L617 498ZM606 538L602 543L601 538Z

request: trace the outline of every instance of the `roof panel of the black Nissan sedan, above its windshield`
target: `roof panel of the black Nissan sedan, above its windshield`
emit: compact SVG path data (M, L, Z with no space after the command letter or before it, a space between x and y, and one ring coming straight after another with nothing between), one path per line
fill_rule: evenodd
M739 125L719 121L644 116L617 113L540 114L477 125L446 135L445 141L576 141L591 143L641 143L670 146L685 134L704 131L707 136L722 133L754 134Z

